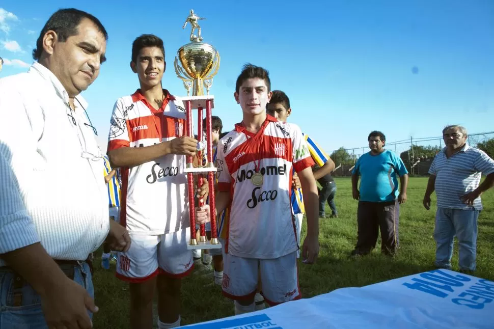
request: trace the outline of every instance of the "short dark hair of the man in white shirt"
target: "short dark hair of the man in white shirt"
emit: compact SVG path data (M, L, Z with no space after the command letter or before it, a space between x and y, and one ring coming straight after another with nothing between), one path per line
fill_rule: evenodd
M96 17L93 15L74 8L60 9L53 13L48 18L45 26L41 30L41 33L36 41L36 48L33 50L33 59L37 61L43 51L43 37L48 31L54 31L57 33L58 41L65 42L69 37L75 36L79 33L78 26L83 18L91 20L97 27L99 32L104 36L105 40L108 40L108 33Z

